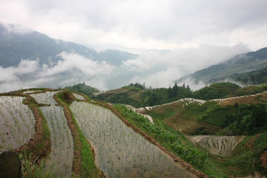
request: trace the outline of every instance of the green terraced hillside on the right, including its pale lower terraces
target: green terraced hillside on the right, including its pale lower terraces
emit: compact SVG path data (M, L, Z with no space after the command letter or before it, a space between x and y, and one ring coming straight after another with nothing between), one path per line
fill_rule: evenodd
M210 158L225 173L246 176L258 171L266 175L267 165L264 162L267 159L267 141L261 139L261 146L253 145L267 130L266 87L267 84L241 88L228 82L215 83L200 91L207 98L212 94L221 94L222 99L204 101L184 98L163 105L140 108L136 112L150 115L155 123L163 122L186 135L196 135L188 137L189 140L214 154ZM240 95L244 91L250 92L250 95L224 98L227 95ZM265 92L253 93L255 91ZM195 92L192 96L194 94ZM232 136L233 139L228 139L230 137L225 137L225 131L244 136ZM258 141L257 143L259 144ZM244 166L239 166L238 162L242 162Z

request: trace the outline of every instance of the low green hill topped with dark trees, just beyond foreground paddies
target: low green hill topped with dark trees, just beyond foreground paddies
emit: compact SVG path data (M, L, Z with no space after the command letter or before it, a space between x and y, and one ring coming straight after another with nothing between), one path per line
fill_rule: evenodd
M128 104L138 108L164 104L184 97L190 97L191 93L190 88L177 86L177 84L173 88L169 87L168 89L151 89L145 88L144 85L136 82L132 86L130 84L116 90L109 90L93 98L112 103Z

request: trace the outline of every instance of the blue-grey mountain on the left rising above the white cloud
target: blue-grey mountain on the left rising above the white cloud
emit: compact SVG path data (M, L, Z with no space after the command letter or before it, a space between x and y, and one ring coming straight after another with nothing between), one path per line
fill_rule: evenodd
M49 65L61 60L57 55L63 51L116 66L139 56L112 49L95 51L72 42L52 39L21 25L0 23L0 65L3 67L17 66L21 59L38 59L40 64Z

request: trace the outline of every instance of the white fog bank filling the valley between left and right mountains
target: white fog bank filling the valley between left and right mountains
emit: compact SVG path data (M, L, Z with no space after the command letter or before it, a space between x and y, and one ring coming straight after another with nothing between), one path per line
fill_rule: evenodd
M201 45L164 53L150 50L141 53L137 59L122 62L120 66L62 52L58 54L62 60L50 65L40 65L38 59L22 59L17 66L0 66L0 93L32 87L64 88L82 82L100 90L120 88L131 82L167 88L185 75L248 51L250 49L242 43L232 47ZM198 85L189 79L183 82L192 90L205 86L201 81ZM183 82L178 85L182 86Z

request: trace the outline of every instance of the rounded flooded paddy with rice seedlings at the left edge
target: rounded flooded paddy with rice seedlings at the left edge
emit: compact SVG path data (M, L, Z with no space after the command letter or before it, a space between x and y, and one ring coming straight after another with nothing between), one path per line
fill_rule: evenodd
M27 143L34 135L34 116L25 97L0 97L0 153Z

